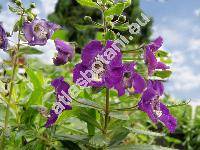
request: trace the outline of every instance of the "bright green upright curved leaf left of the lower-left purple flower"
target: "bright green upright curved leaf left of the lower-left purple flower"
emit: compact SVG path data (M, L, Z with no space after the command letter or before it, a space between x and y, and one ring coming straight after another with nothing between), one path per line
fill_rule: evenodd
M33 92L29 98L28 104L42 105L44 89L42 88L42 82L40 80L41 76L39 76L38 73L34 72L30 68L27 68L26 72L30 78L31 83L33 84Z

